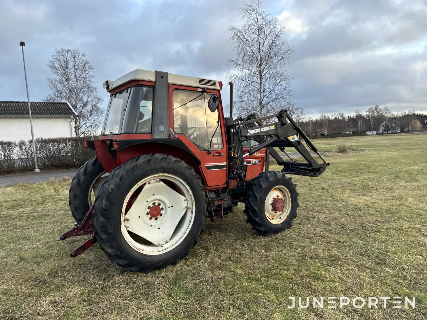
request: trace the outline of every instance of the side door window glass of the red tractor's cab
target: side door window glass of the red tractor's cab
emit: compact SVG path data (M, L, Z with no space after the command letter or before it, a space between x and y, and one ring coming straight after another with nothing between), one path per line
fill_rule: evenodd
M173 90L173 130L185 134L201 150L221 150L218 109L208 108L209 93Z

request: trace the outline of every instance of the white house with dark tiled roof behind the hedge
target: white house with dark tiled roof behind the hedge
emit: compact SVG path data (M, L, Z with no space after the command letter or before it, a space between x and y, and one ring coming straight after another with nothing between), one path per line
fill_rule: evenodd
M76 111L67 102L30 102L34 137L74 137ZM0 139L31 139L28 102L0 101Z

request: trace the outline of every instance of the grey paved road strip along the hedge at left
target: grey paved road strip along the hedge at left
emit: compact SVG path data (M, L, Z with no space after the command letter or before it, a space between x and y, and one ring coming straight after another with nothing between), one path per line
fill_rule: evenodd
M47 182L52 177L67 176L73 178L76 175L77 169L72 170L56 170L56 171L40 171L20 173L17 175L2 175L0 176L0 186L14 185L20 182L28 184L36 182Z

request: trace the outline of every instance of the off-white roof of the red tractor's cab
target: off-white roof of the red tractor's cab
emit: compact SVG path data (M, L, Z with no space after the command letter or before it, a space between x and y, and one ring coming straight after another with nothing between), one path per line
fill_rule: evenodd
M105 82L108 82L110 84L108 86L107 91L111 91L115 87L118 87L119 85L124 84L131 80L155 81L155 77L156 77L155 71L136 69L125 74L124 76L120 77L117 80L114 80L114 81L107 80ZM196 78L196 77L190 77L190 76L180 76L173 73L168 74L168 79L170 84L179 84L179 85L184 85L189 87L221 90L221 87L219 86L219 83L216 80L202 79L202 78Z

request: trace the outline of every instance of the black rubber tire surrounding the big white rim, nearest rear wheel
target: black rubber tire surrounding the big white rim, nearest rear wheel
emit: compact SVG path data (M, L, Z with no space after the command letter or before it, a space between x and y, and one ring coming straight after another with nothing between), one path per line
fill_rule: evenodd
M188 233L175 247L160 254L146 254L134 249L126 241L121 230L122 210L130 190L144 178L155 174L174 175L187 183L193 194L196 209ZM204 229L208 215L207 204L205 186L191 166L171 155L145 154L132 158L114 169L102 185L94 204L95 235L99 246L111 261L127 270L149 273L158 268L175 265L190 253L190 249L197 244L198 236ZM145 212L142 214L145 215Z

